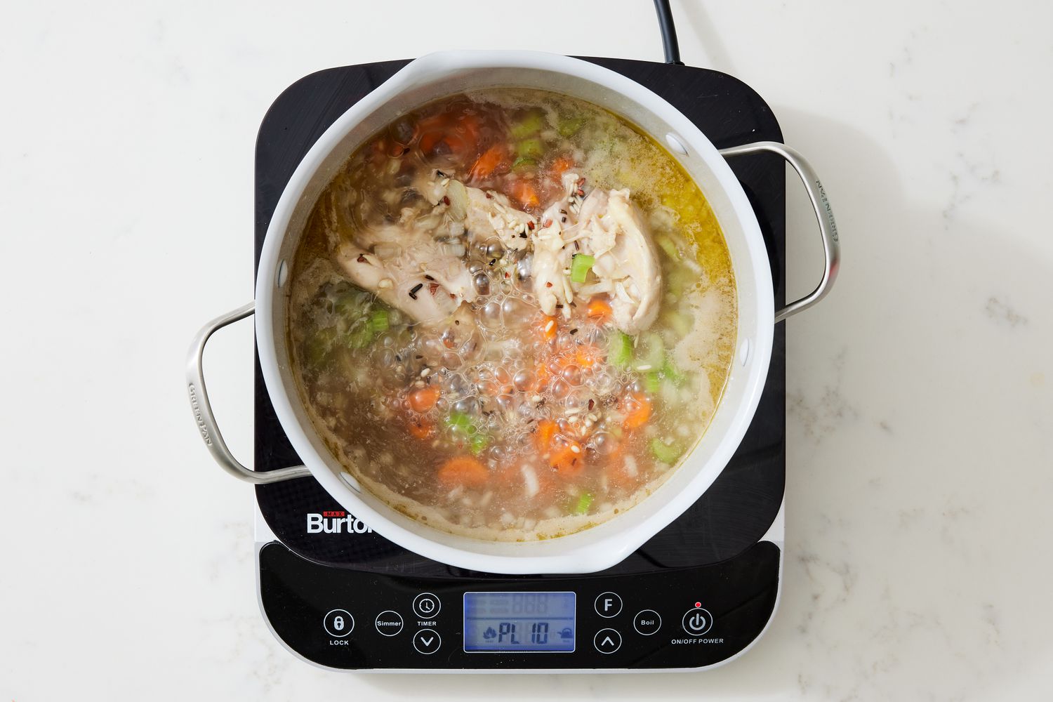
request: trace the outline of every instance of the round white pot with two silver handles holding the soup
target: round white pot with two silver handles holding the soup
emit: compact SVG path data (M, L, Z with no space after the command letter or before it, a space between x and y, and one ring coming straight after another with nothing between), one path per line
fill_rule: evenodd
M659 143L670 144L716 215L731 254L738 294L738 338L723 398L702 440L680 467L653 495L598 526L533 542L481 541L448 534L410 519L359 488L315 433L296 388L285 341L283 285L289 263L318 195L347 157L397 115L439 97L493 86L537 87L581 98L621 115ZM755 151L778 153L797 168L812 196L827 253L827 272L820 285L783 308L781 319L814 304L829 288L837 266L837 234L818 179L795 152L763 142L723 154ZM201 330L191 352L191 403L202 437L217 460L256 483L310 472L349 513L384 538L436 561L501 574L590 573L610 567L690 507L723 470L750 425L768 374L773 325L778 321L757 218L721 153L687 117L642 85L593 63L552 54L503 51L443 52L408 64L326 129L278 201L256 281L256 339L271 401L305 467L260 474L249 470L230 454L215 426L200 356L216 328L252 312L252 305L246 305L215 320Z

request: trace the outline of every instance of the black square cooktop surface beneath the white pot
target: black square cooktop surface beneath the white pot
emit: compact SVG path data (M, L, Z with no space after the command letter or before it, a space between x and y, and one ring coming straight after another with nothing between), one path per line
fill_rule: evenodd
M694 121L718 148L782 140L771 109L736 78L690 66L621 59L587 60L617 71L659 94ZM405 63L386 61L321 71L297 81L274 102L260 126L256 144L257 266L278 198L304 154L337 117ZM783 162L774 155L757 154L736 157L729 163L760 222L772 265L776 306L780 306L784 297ZM596 575L715 564L754 545L771 526L782 501L784 399L786 340L784 325L779 324L775 328L771 368L760 404L728 467L681 517L624 561ZM275 417L258 357L255 403L256 469L299 464ZM267 525L281 542L318 564L417 577L503 578L431 561L372 531L309 534L306 515L343 512L313 478L260 485L256 487L256 497Z

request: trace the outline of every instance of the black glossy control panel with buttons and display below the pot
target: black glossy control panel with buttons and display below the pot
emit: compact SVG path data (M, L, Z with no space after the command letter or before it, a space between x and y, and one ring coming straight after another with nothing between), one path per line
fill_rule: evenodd
M333 668L699 668L735 656L775 608L779 548L627 575L416 578L259 550L263 613Z

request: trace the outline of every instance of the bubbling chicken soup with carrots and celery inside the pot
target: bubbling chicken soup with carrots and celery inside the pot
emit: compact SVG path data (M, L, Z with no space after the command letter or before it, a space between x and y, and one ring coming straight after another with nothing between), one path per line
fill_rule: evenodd
M692 179L618 116L537 89L444 98L366 140L289 289L300 396L344 470L490 540L651 494L706 432L736 333Z

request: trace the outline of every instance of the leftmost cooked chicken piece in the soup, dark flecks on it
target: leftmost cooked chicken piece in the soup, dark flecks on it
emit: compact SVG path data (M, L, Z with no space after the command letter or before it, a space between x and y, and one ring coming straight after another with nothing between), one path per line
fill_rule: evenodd
M432 324L476 299L464 261L431 234L402 226L363 232L340 246L337 263L359 287L371 290L418 322Z

